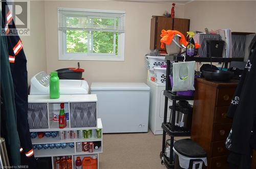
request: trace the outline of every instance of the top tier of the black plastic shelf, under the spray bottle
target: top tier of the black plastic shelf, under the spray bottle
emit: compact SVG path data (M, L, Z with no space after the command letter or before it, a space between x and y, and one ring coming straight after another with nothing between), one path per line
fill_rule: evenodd
M183 62L184 57L180 55L166 55L165 60L169 61L181 61ZM196 61L196 62L210 62L210 58L206 57L186 57L186 61ZM231 62L238 61L243 62L244 58L211 58L211 62Z

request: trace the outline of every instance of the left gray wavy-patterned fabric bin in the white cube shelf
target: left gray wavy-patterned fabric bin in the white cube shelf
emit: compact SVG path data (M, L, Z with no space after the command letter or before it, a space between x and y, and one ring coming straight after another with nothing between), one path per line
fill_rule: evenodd
M28 123L30 129L47 129L48 112L47 103L28 104Z

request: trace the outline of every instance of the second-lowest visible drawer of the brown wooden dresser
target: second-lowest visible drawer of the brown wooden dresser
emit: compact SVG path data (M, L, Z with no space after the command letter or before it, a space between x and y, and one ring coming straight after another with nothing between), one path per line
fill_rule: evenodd
M225 141L211 143L211 157L228 155L229 151L225 147Z

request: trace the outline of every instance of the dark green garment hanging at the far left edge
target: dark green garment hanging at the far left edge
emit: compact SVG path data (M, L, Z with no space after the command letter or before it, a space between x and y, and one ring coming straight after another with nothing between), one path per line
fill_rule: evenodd
M3 16L1 21L3 25ZM14 88L8 59L6 36L0 36L1 42L1 136L6 140L8 159L11 166L20 164L20 142L17 132Z

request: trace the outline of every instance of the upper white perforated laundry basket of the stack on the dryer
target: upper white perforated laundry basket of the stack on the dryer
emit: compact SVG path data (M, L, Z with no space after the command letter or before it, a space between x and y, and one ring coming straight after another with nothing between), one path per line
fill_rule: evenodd
M145 55L146 58L146 68L150 70L154 70L153 67L159 67L162 65L166 65L165 56L148 56Z

